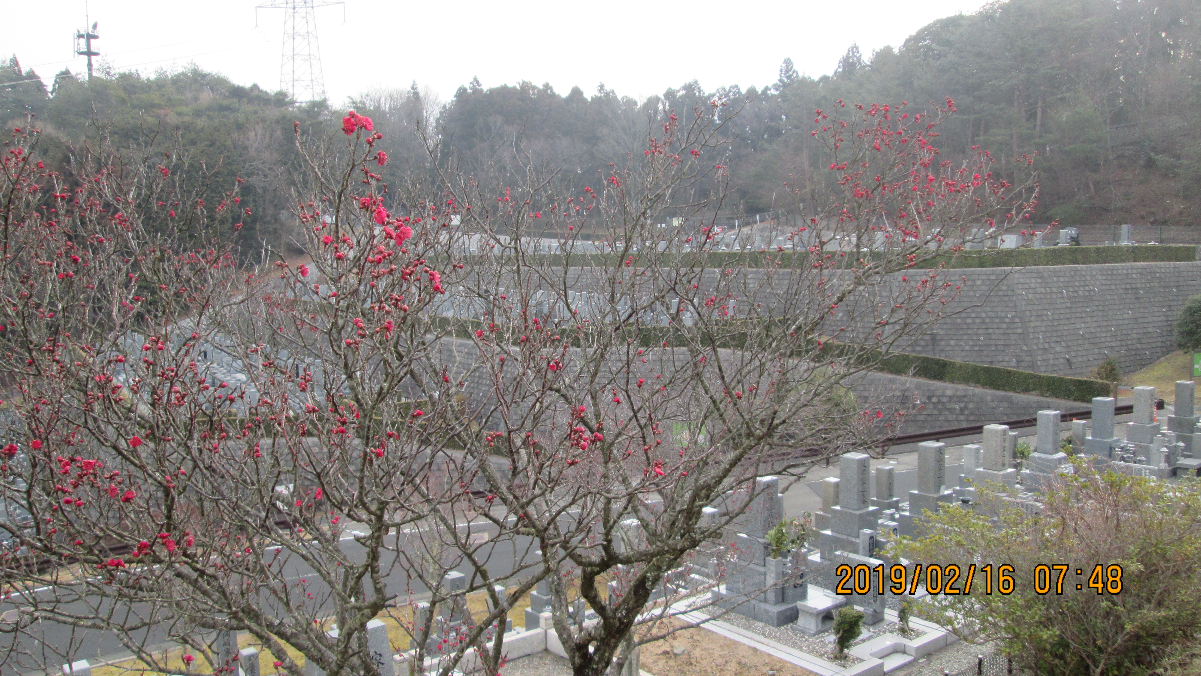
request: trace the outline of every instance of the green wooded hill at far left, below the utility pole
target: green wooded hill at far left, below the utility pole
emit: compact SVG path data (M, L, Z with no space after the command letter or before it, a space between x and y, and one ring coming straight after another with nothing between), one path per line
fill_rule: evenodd
M261 255L264 243L295 253L287 195L300 167L288 140L292 123L300 120L309 129L322 115L319 106L293 111L282 94L240 87L195 66L153 77L112 73L91 82L60 73L53 96L40 82L18 87L0 94L2 121L24 126L25 113L32 113L46 136L43 161L65 180L77 180L71 158L86 154L89 144L151 148L205 202L220 202L234 178L243 179L241 198L255 207L239 221L239 257ZM180 148L187 148L186 156ZM228 235L233 239L233 232Z

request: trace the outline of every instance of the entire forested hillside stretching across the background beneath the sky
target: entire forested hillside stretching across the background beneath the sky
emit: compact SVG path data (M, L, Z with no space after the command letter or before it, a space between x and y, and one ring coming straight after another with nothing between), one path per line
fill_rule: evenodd
M348 105L384 134L380 146L394 161L381 171L389 180L453 158L502 182L534 164L586 184L609 162L640 153L669 111L687 119L719 100L731 141L719 160L733 170L727 208L735 215L807 210L820 201L829 160L809 135L815 109L951 99L957 114L940 128L943 156L958 160L973 146L1000 160L1036 154L1035 220L1201 225L1199 22L1195 0L1010 0L939 19L896 48L865 55L850 46L833 73L815 78L785 61L772 83L706 91L692 82L646 101L603 84L591 95L580 88L561 95L550 85L484 88L473 79L446 103L414 84L364 93ZM853 25L847 29L853 40ZM0 82L32 76L16 58L0 69ZM49 90L41 82L0 89L0 118L25 112L40 115L64 148L96 137L98 128L126 143L157 134L165 147L178 134L193 162L220 167L215 185L234 173L247 178L247 197L259 209L247 219L255 241L280 241L291 227L292 121L323 121L336 134L329 107L297 109L282 94L195 69L107 73L91 85L60 75ZM998 164L1005 171L1006 162Z

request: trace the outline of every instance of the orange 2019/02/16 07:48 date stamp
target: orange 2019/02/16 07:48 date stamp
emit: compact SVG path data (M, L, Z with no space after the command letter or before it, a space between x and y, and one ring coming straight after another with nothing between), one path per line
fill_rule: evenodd
M931 594L1012 594L1020 583L1017 570L1008 563L1000 565L924 565L912 570L901 564L839 565L835 569L837 594L915 594L925 589ZM1038 594L1062 594L1064 589L1092 589L1098 594L1122 593L1122 567L1095 564L1091 568L1068 564L1038 564L1026 575Z

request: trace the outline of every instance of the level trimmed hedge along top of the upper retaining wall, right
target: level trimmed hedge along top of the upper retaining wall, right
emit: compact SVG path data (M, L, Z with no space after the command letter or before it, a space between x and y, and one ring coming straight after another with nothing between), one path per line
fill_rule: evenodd
M1130 247L1045 247L964 251L948 261L950 268L1151 263L1197 260L1191 244L1134 244Z

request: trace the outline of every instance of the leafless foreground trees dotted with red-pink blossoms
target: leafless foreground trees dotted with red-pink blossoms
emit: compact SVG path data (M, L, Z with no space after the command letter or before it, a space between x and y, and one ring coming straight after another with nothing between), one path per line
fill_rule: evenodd
M704 610L760 479L895 425L844 392L956 295L931 261L1034 203L982 153L942 160L950 101L848 103L811 128L839 200L791 250L716 253L723 103L661 109L581 186L522 155L467 171L430 137L430 168L386 185L371 119L298 124L311 260L256 265L215 236L237 177L202 200L153 146L95 147L67 182L12 132L5 664L127 651L198 675L239 631L281 672L374 675L382 617L413 664L496 672L494 627L545 581L575 674L599 676ZM569 619L576 595L596 622Z

